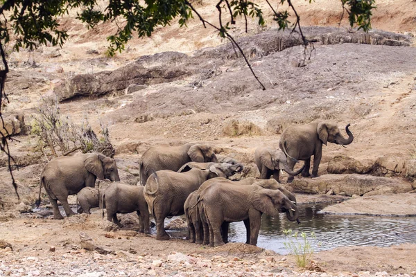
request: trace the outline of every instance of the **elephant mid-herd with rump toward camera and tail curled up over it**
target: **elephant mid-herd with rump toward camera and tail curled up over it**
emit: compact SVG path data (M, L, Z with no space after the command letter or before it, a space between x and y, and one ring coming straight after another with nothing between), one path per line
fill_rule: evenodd
M192 168L187 172L159 170L148 178L144 186L144 198L150 215L156 221L157 240L168 240L164 219L168 216L183 215L184 202L200 185L214 177L229 177L243 170L242 164L216 163L209 170Z

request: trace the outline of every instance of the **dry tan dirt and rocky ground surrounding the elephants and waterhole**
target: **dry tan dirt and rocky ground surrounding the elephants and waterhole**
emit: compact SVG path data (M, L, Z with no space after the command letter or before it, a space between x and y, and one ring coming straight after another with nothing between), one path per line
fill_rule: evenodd
M316 0L309 4L303 0L293 1L299 7L304 26L325 27L305 28L305 32L320 37L327 33L331 33L332 37L340 33L348 34L350 30L345 21L341 24L343 32L329 28L338 26L342 13L336 2ZM212 12L210 3L214 2L204 1L198 10L208 19L214 20L216 15ZM232 34L245 42L245 50L253 54L250 62L254 72L265 84L266 91L261 90L243 60L232 55L218 55L228 51L229 46L223 46L226 41L220 39L213 30L202 28L197 19L191 20L188 28L179 29L173 24L158 28L153 37L133 39L124 53L110 58L104 54L107 46L105 37L115 26L105 25L87 30L70 14L62 19L62 24L69 29L70 34L69 42L62 49L42 46L33 52L10 52L12 72L6 82L10 104L5 107L5 114L19 111L25 115L26 123L30 123L40 97L53 95L56 87L68 84L78 74L120 72L116 69L130 62L139 62L143 66L141 70L148 70L146 72L173 66L186 69L190 75L186 74L180 80L145 83L139 90L128 93L124 91L128 87L127 83L122 84L123 89L111 90L110 86L110 92L106 87L106 93L101 96L78 96L60 103L60 111L71 120L82 123L84 118L88 118L96 131L100 129L101 123L109 128L110 139L116 148L116 161L119 168L122 168L123 178L131 184L137 180L139 157L152 145L179 145L193 141L209 143L216 148L217 154L245 164L243 173L235 178L258 176L253 160L257 146L278 148L279 135L288 125L309 123L312 120L333 120L340 129L351 123L354 142L347 148L331 143L324 147L320 175L374 175L391 178L390 181L396 180L414 190L416 48L412 46L412 34L416 32L416 2L380 0L376 4L378 8L374 11L373 28L406 33L410 46L316 43L311 60L306 60L303 66L302 46L278 51L281 49L276 43L276 26L272 24L271 14L266 14L266 21L270 23L268 28L259 28L250 21L248 33L245 33L243 25L236 26ZM272 47L276 49L271 51ZM164 51L179 51L187 56L180 55L180 58L173 59L169 57L175 54L162 53ZM157 55L152 56L153 54ZM121 81L117 85L129 81L125 80L127 77L123 74L118 78ZM131 228L107 232L104 231L106 222L103 222L98 213L89 217L77 215L55 221L50 219L51 215L46 219L32 218L30 213L15 211L17 204L25 209L35 202L40 171L46 162L44 157L33 153L33 145L37 140L35 136L20 135L15 136L15 139L11 141L10 147L21 165L19 171L15 171L20 201L17 201L12 191L7 168L0 168L0 240L12 244L12 251L0 251L0 270L3 273L10 270L10 274L22 276L19 266L23 268L23 265L24 272L28 273L32 270L29 264L33 262L26 259L32 256L49 263L49 259L63 262L57 267L67 267L75 262L79 267L85 267L85 271L98 272L102 266L112 273L115 272L112 271L113 268L103 260L114 259L122 264L128 260L128 263L136 265L135 262L144 257L144 262L137 264L140 266L137 266L138 271L134 274L175 275L172 272L180 274L189 270L185 270L182 264L171 265L167 262L167 256L177 251L196 257L202 264L204 260L209 260L213 267L200 264L203 270L196 266L198 262L195 263L200 276L217 276L222 270L229 270L227 272L231 275L240 269L250 276L256 276L256 271L261 271L266 276L275 276L277 273L282 276L302 274L302 269L295 266L293 257L279 256L257 247L227 244L211 249L178 239L159 242L151 236L137 234ZM0 163L6 165L5 157L0 157ZM286 177L283 175L283 180ZM394 211L389 206L406 204L400 206L399 210L410 211L415 207L413 196L414 194L406 194L406 198L403 195L372 195L352 199L339 194L298 195L298 202L336 203L351 199L334 206L340 207L336 213L377 214L379 210L376 208L381 205L386 205L386 211ZM42 195L42 199L46 204L45 195ZM128 225L135 226L134 222ZM133 250L135 256L105 256L85 251L80 247L80 232L87 233L95 244L112 253ZM51 246L55 247L55 252L50 251ZM370 271L371 274L381 272L379 275L383 275L383 271L392 275L415 275L415 250L416 244L388 248L340 247L314 253L315 267L311 269L317 272L323 269L334 275L341 272L367 276L365 271ZM218 258L214 258L218 255L224 256L226 260L218 261ZM166 267L155 267L153 262L158 259L166 262ZM261 262L262 259L267 263ZM13 269L4 269L3 260ZM84 260L91 262L85 264ZM53 267L46 270L49 263L44 271L40 271L40 275L46 275L46 271L63 270ZM92 265L96 265L96 269L94 267L93 270ZM175 270L168 271L171 267ZM135 267L125 270L131 271L132 268ZM67 273L62 271L61 275L79 274L78 271L71 270ZM317 272L313 274L322 274ZM115 275L116 273L113 276Z

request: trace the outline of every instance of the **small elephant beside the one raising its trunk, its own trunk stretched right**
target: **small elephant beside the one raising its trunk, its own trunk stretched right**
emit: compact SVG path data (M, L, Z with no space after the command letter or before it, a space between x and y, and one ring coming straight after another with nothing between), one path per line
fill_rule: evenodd
M302 167L297 171L291 170L284 152L271 148L257 148L254 152L254 161L256 162L257 168L259 168L260 179L270 179L270 176L273 175L273 178L279 181L281 169L286 171L288 175L295 176L300 174L304 168Z

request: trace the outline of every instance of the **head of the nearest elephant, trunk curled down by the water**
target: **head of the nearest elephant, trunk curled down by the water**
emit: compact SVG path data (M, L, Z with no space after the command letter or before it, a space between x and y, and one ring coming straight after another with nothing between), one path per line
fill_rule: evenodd
M268 190L260 188L252 196L252 205L257 211L266 213L266 215L278 215L286 213L290 221L299 223L299 210L280 190Z

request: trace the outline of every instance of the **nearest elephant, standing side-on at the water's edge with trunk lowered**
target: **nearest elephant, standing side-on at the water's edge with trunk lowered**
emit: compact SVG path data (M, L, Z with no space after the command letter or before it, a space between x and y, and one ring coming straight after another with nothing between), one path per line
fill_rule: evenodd
M209 242L213 247L225 244L221 235L224 222L244 221L250 231L249 244L257 245L263 213L286 213L290 221L298 221L299 218L297 206L284 193L256 184L241 186L215 182L200 193L199 204L209 227Z

